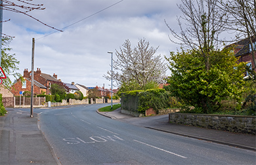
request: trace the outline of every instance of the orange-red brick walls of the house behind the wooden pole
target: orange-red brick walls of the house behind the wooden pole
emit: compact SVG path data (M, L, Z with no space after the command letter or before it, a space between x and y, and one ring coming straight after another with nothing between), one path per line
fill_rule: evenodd
M14 96L20 96L20 92L22 95L25 91L31 92L31 79L24 77L24 81L18 80L15 84L12 85L11 91ZM43 84L33 81L33 94L42 94L47 92L47 87Z

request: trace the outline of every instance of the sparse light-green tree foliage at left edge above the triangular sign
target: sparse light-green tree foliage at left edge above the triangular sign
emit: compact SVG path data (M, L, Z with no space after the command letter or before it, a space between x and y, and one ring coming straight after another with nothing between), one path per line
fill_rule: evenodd
M5 86L10 87L12 85L12 81L10 79L11 76L13 76L15 79L20 78L22 75L20 73L16 73L18 71L18 64L20 62L15 58L15 54L10 54L9 52L12 50L9 47L9 44L11 43L12 38L11 37L3 37L2 38L2 50L1 50L1 67L3 71L5 72L5 75L7 76L7 79L2 79L3 84Z

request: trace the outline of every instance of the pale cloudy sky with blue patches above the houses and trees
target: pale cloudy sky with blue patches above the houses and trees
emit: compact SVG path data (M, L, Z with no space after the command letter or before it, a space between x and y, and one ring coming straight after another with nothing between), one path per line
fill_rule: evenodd
M111 85L103 77L111 69L108 51L114 52L115 60L116 50L126 39L131 41L132 48L139 39L146 39L154 48L159 46L156 55L161 54L163 60L164 56L169 57L170 51L179 48L169 40L171 33L164 22L166 20L171 28L179 31L177 16L182 15L177 7L177 3L181 3L179 0L32 2L43 3L46 9L28 14L57 29L66 28L59 32L24 14L3 10L3 20L11 19L3 22L3 33L14 37L9 46L20 61L18 73L22 75L24 69L32 69L32 38L35 38L34 70L40 68L42 73L58 75L62 82L104 85L105 88Z

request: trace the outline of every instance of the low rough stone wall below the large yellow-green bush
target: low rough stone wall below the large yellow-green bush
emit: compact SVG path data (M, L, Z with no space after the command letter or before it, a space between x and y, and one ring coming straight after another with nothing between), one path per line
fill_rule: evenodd
M255 135L256 117L169 113L169 122Z

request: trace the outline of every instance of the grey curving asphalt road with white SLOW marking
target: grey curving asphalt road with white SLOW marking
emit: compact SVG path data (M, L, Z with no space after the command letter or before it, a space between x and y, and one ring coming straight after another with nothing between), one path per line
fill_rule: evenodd
M61 164L254 164L255 152L135 126L96 113L106 104L36 110Z

